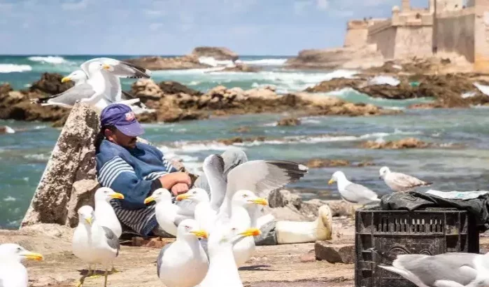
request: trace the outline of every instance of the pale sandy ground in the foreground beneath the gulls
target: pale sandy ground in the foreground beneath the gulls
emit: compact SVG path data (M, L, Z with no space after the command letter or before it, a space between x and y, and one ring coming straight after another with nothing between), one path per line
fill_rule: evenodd
M335 219L336 232L332 241L353 244L353 228L345 221L348 220ZM76 286L80 276L87 272L87 266L71 253L69 236L62 236L62 238L58 236L46 237L29 232L0 230L0 243L17 242L29 250L39 251L45 255L45 260L41 262L27 262L29 286ZM313 249L313 243L257 246L253 258L240 269L243 285L353 287L353 264L318 261L315 259ZM108 276L108 286L163 286L156 274L156 258L159 252L157 248L122 246L120 255L115 261L115 267L120 272ZM101 270L99 274L103 274ZM103 276L86 279L84 284L85 287L103 285Z

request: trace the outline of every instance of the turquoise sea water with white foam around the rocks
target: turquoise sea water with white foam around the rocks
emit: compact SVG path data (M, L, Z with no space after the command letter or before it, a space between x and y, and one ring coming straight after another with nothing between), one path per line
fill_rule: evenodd
M38 62L31 56L1 57L0 82L15 87L37 80L43 71L69 73L90 57L44 57L50 62ZM113 56L111 56L113 57ZM127 57L120 56L119 59ZM349 76L351 71L311 72L284 71L281 57L243 57L244 61L267 63L260 73L224 73L215 69L191 71L155 71L155 80L177 80L205 91L215 85L243 88L275 85L280 91L303 90L335 76ZM59 62L59 63L55 63ZM258 63L258 62L255 62ZM11 66L17 65L17 66ZM2 66L3 65L3 66ZM8 65L8 66L6 66ZM10 72L29 65L30 71ZM19 68L20 66L20 68ZM23 66L22 69L27 69ZM3 72L2 72L3 71ZM132 81L127 80L126 87ZM387 109L405 109L410 104L430 99L393 101L371 99L353 90L332 93L350 102L367 102ZM349 179L369 186L380 194L389 190L378 179L378 169L388 165L399 172L433 181L439 190L486 189L485 176L489 160L489 118L486 109L404 110L397 116L378 117L311 117L302 118L297 127L276 127L284 115L262 114L214 118L183 123L153 123L145 125L145 138L152 141L169 158L181 158L193 172L199 173L204 158L222 153L225 146L215 140L234 136L265 136L267 141L247 143L242 147L250 159L281 159L305 162L311 158L350 160L353 163L371 161L370 167L341 167ZM59 136L59 129L47 123L0 121L18 130L0 135L0 228L16 228L29 206L31 197L43 173L50 152ZM248 126L250 132L237 134L237 127ZM414 150L366 150L358 148L364 140L402 139L417 137L425 141L463 148L430 148ZM304 179L292 185L304 198L339 199L336 186L327 181L338 168L311 169Z

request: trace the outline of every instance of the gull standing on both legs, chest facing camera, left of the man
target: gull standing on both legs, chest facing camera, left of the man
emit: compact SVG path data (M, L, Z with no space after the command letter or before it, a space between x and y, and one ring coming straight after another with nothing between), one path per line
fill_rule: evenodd
M88 263L88 274L80 278L77 287L83 285L85 277L92 275L92 265L101 264L105 267L104 287L107 286L107 267L119 255L118 237L105 226L99 225L92 207L85 205L78 209L78 226L73 232L73 254Z

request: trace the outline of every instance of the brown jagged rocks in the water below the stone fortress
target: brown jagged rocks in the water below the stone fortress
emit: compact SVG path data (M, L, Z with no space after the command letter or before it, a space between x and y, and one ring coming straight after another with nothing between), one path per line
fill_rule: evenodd
M332 92L353 88L357 92L383 99L432 98L434 102L413 104L411 109L469 108L489 104L489 97L478 88L489 78L479 73L436 73L443 60L419 59L407 64L386 62L383 66L365 69L354 78L326 80L305 92ZM376 83L381 77L392 83ZM480 86L479 86L480 87Z

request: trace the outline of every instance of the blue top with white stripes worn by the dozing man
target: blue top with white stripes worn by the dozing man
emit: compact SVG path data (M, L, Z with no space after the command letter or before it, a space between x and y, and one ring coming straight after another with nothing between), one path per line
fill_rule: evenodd
M112 200L119 220L141 235L156 226L155 209L144 200L154 191L161 176L177 172L163 153L148 144L137 143L136 148L123 148L111 141L101 142L97 153L97 178L101 186L122 193L124 200Z

